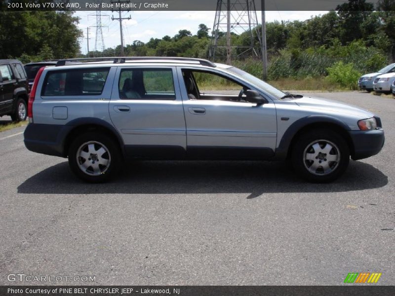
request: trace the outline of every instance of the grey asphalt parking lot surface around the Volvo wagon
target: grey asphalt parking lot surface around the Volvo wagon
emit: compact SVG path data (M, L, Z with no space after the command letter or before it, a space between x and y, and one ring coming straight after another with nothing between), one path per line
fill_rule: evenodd
M303 92L302 92L303 93ZM0 133L0 285L9 274L95 276L79 285L342 285L349 272L395 281L395 99L305 93L373 111L380 154L332 184L282 162L132 162L91 185L67 159ZM349 284L350 285L350 284Z

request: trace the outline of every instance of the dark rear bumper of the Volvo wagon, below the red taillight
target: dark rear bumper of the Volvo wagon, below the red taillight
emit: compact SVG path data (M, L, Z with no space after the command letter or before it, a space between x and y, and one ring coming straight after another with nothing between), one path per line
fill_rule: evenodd
M66 157L64 141L73 126L30 123L24 132L24 142L30 151Z

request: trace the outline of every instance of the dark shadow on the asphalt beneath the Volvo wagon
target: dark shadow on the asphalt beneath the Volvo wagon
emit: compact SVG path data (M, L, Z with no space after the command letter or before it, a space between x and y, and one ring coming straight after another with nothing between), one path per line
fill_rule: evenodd
M106 184L77 179L68 163L51 166L18 186L18 193L40 194L182 194L248 193L247 198L273 192L344 192L379 188L388 177L370 164L351 161L345 174L330 184L307 183L283 162L136 161L125 164Z

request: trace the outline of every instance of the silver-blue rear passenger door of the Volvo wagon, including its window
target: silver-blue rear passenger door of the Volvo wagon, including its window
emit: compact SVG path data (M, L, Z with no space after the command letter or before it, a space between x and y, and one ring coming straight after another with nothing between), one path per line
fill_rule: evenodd
M131 157L183 158L186 128L175 67L119 67L110 117Z

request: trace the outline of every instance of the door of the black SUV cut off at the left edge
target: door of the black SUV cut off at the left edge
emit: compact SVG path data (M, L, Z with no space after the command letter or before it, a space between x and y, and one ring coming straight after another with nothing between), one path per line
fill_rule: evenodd
M17 82L9 64L0 65L0 73L2 77L2 101L0 103L0 109L2 113L11 113L14 89L17 87Z

